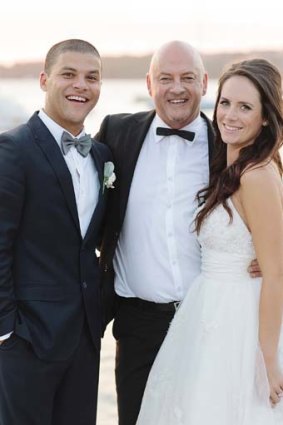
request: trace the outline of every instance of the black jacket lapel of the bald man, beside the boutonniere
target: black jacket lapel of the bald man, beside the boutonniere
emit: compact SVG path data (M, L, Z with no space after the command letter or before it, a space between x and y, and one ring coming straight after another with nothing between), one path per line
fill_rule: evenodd
M150 124L155 116L155 111L135 117L132 128L129 129L130 139L126 139L123 144L122 158L124 158L124 167L121 170L121 187L120 187L120 218L124 219L125 211L128 203L130 187L136 168L136 163L143 145L143 141L148 132ZM122 223L121 223L122 224Z

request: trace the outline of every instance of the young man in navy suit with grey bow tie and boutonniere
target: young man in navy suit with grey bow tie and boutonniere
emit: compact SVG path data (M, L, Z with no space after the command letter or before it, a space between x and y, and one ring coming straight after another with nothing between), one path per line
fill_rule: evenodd
M40 86L44 108L0 135L0 424L94 425L95 248L111 161L84 131L100 94L98 51L76 39L54 45Z

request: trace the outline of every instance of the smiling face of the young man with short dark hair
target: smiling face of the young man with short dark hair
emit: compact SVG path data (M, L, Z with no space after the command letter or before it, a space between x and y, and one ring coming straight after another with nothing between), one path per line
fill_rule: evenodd
M48 74L41 73L40 86L46 92L47 115L76 136L99 99L100 58L92 53L64 52Z

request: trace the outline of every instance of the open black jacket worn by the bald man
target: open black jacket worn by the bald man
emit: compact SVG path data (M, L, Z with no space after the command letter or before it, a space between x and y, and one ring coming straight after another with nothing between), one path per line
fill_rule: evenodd
M125 217L137 159L154 116L155 111L108 115L96 135L97 140L110 147L117 176L115 189L111 191L108 198L106 226L101 248L106 322L113 318L115 311L112 261ZM211 161L214 131L211 121L204 114L202 117L207 122L209 160Z

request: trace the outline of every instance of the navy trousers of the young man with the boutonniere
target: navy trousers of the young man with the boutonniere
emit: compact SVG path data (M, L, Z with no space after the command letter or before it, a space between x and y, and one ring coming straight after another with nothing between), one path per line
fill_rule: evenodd
M13 334L0 346L0 425L95 425L98 371L86 326L64 362L40 360Z

